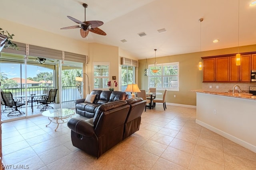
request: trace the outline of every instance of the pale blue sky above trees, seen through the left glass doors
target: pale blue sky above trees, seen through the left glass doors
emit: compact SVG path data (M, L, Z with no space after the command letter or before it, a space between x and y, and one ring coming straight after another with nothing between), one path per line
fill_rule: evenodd
M20 77L20 64L0 63L0 72L6 74L8 78ZM52 70L41 66L27 65L27 77L33 78L40 72L52 72ZM22 78L24 77L24 64L22 64Z

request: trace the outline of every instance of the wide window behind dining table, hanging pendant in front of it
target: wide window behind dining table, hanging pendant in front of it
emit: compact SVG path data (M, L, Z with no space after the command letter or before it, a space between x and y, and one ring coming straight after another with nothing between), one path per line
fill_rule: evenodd
M179 63L158 64L160 70L152 72L154 64L148 65L148 88L168 89L179 91Z

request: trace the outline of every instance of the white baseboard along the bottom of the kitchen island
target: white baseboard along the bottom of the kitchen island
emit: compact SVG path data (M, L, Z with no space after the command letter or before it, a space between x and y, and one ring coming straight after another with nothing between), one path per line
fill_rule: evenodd
M247 148L249 150L252 150L252 152L256 152L256 146L251 145L250 143L248 143L246 141L238 139L237 137L234 137L234 136L232 136L232 135L230 135L230 134L228 134L228 133L226 133L224 131L221 131L220 129L217 129L217 128L211 126L211 125L208 125L208 124L206 124L206 123L204 123L204 122L202 122L200 120L196 119L196 123L198 125L201 125L202 127L205 127L206 129L209 129L209 130L211 130L211 131L213 131L213 132L215 132L215 133L217 133L217 134L219 134L219 135L229 139L230 141L233 141L234 143L237 143L238 145L241 145L241 146L243 146L243 147L245 147L245 148Z

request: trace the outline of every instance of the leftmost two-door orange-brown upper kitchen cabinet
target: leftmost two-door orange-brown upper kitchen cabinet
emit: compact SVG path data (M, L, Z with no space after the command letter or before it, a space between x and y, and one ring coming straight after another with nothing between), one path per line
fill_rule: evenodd
M230 57L203 59L203 82L228 82Z

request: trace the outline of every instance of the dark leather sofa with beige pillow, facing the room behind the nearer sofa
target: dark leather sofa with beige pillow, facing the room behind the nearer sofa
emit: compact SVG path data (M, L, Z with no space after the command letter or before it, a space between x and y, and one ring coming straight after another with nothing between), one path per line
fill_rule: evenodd
M94 117L97 108L105 103L117 100L126 100L126 92L110 91L110 90L92 90L90 94L96 94L92 103L84 102L85 99L76 99L76 113L87 118Z

